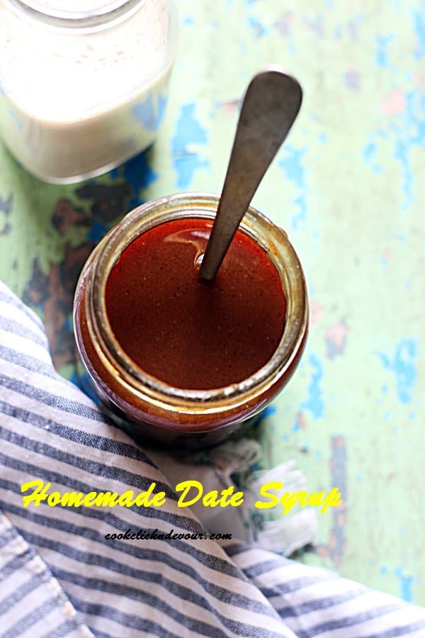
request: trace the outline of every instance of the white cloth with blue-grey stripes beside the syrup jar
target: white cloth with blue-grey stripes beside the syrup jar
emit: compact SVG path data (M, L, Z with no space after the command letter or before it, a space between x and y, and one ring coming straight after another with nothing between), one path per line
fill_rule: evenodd
M147 454L55 373L40 320L3 284L0 359L2 637L425 636L423 608L210 539ZM24 508L21 484L34 480L119 494L154 481L166 503ZM129 529L205 539L105 538Z

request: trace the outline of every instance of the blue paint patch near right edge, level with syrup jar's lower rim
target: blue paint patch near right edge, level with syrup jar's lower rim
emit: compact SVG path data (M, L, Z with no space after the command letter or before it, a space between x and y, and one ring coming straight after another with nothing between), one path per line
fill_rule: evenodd
M406 404L412 401L412 392L416 383L416 358L418 345L415 339L402 339L395 347L392 357L383 352L375 352L382 366L395 374L395 388L399 402Z

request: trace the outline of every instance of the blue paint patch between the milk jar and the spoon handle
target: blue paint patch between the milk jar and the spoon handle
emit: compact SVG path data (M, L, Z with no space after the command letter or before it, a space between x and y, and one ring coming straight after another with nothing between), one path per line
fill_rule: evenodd
M198 152L191 150L191 145L205 145L207 142L207 133L195 118L195 104L184 104L171 140L176 184L180 189L186 189L191 184L196 169L209 167L208 159L199 159Z

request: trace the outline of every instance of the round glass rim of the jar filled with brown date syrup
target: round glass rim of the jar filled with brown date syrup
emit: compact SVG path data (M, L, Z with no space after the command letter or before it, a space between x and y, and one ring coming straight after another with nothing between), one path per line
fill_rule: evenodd
M283 264L277 268L287 301L285 326L276 351L258 371L238 383L208 390L188 390L169 386L147 374L120 347L111 329L106 311L106 281L118 256L135 238L149 228L179 218L208 218L213 220L220 197L205 193L184 193L166 196L138 206L116 225L96 248L96 255L86 286L87 324L91 338L98 343L103 364L118 368L120 381L137 396L157 405L196 409L220 410L243 405L248 398L263 393L277 378L283 376L302 347L308 323L307 288L300 261L285 231L278 228L255 208L246 211L239 230L254 239L268 254L271 262ZM173 217L174 215L174 217ZM170 218L171 216L171 218ZM140 232L137 232L140 231ZM205 407L206 406L206 407Z

